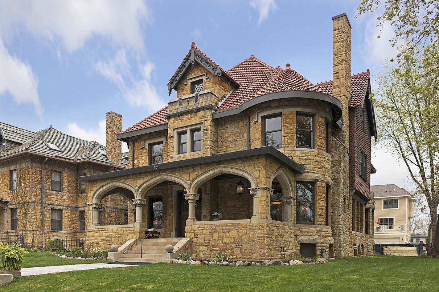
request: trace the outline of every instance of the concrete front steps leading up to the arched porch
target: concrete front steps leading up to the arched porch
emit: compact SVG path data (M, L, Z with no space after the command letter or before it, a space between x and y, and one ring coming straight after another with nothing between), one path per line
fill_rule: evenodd
M122 256L114 257L117 261L126 262L162 262L163 253L166 253L165 246L168 244L177 248L177 243L183 238L165 238L165 239L144 239L143 250L141 250L140 239L133 242L129 248L122 252ZM140 256L140 254L142 255Z

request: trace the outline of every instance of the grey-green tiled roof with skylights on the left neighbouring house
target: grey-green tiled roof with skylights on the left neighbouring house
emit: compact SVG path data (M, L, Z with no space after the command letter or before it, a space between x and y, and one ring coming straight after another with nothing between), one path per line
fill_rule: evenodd
M51 149L47 143L53 143L59 148L60 151ZM105 146L96 142L85 141L83 139L66 135L57 129L50 127L34 133L32 137L25 141L22 145L1 153L0 159L11 154L30 151L73 161L91 159L98 162L111 164L112 161L110 161L108 157L99 150L105 152ZM128 164L125 159L122 159L121 163Z

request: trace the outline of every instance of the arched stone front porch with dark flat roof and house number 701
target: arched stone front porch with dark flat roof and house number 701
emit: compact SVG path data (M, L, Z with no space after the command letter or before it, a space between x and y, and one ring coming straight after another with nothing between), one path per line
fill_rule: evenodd
M259 245L271 253L291 252L292 185L301 165L272 147L212 155L209 163L202 163L205 157L189 160L178 161L180 167L168 168L176 163L169 162L110 172L107 179L86 177L92 186L87 240L121 246L154 229L160 238L191 238L193 248L206 254L213 246L248 258ZM124 224L117 216L103 224L103 202L111 196L126 200ZM273 236L277 240L267 244Z

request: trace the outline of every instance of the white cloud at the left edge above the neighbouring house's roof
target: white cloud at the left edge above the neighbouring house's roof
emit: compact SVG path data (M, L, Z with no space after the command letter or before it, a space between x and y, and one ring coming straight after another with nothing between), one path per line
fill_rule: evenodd
M36 113L41 116L41 107L38 96L38 78L27 62L11 56L0 37L0 96L10 93L16 103L32 103Z

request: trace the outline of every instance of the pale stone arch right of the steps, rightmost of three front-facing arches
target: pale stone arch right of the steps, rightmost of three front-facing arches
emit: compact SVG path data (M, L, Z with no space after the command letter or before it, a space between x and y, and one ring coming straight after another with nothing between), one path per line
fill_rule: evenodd
M194 178L191 184L191 188L189 190L190 193L197 193L198 188L206 181L208 181L211 178L214 178L220 174L235 174L237 176L241 176L246 178L249 182L252 188L255 188L258 186L258 182L255 178L255 176L245 169L235 167L235 166L228 166L228 165L218 165L216 167L212 167L208 171L203 172L202 174L199 174L197 177Z

